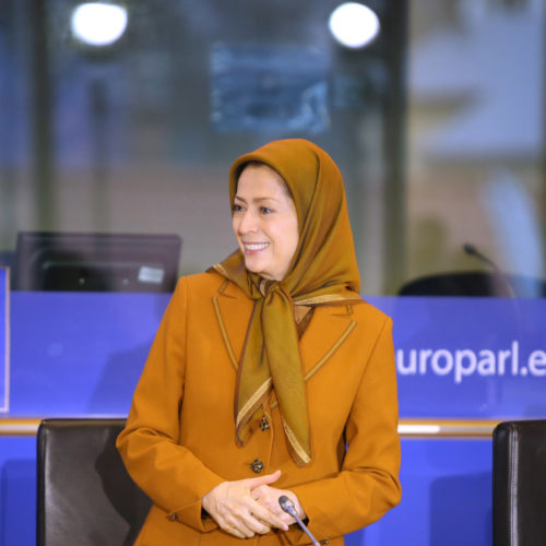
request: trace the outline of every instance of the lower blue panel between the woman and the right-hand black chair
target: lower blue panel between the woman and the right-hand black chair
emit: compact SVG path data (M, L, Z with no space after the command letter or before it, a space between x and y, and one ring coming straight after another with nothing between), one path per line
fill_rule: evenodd
M491 441L403 440L402 502L347 546L488 546Z

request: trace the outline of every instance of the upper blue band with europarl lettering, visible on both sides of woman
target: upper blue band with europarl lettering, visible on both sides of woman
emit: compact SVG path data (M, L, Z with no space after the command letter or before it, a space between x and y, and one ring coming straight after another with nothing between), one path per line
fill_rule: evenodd
M546 415L546 299L369 300L394 320L402 418ZM13 293L8 415L126 415L167 302Z

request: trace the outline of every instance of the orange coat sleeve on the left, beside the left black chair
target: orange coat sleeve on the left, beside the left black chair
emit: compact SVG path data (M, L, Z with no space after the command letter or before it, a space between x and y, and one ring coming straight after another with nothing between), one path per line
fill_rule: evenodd
M206 532L217 525L201 518L201 499L225 479L178 444L187 290L187 281L181 278L156 333L117 447L135 484L166 512L166 518Z

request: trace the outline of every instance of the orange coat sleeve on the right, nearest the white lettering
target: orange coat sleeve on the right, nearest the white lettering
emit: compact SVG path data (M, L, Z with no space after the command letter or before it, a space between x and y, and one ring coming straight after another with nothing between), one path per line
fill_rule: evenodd
M344 535L379 520L400 502L400 439L392 321L384 320L360 379L345 427L340 473L292 487L319 539ZM308 538L296 531L294 544Z

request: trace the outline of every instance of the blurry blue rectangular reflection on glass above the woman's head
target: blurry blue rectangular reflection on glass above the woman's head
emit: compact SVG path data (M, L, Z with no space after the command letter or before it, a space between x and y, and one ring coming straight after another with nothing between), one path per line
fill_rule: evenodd
M324 132L329 62L317 50L228 47L211 56L211 120L223 132Z

